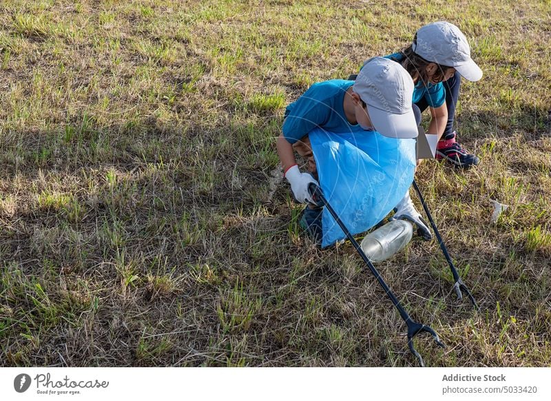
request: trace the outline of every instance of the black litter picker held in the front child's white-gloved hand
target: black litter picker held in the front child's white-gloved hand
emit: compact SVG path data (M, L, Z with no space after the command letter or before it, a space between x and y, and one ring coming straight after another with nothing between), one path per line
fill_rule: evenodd
M419 352L417 352L417 350L415 349L415 346L413 345L413 338L415 336L417 336L417 334L419 334L419 333L425 333L426 332L426 333L430 333L433 336L436 344L439 347L444 348L445 347L444 343L441 342L440 338L438 337L438 334L432 328L428 327L427 325L422 325L421 323L415 322L415 320L413 320L409 316L409 314L406 312L404 307L402 307L402 304L400 304L399 300L397 300L397 298L395 297L395 295L393 294L391 289L388 287L388 285L386 285L386 282L384 281L384 279L379 274L379 271L377 271L377 269L375 269L375 266L373 266L373 263L371 263L371 260L369 260L369 258L366 256L366 254L364 253L364 251L360 247L360 245L356 242L356 240L354 239L352 234L346 228L344 223L342 223L342 220L339 218L339 216L337 216L337 213L335 212L333 207L331 207L331 205L329 205L329 202L323 196L320 187L318 185L315 185L314 183L311 183L309 185L309 192L310 192L311 196L313 197L313 199L315 200L316 203L324 205L324 207L326 207L327 210L329 210L329 213L331 213L331 216L333 216L333 218L335 219L337 224L340 226L340 228L342 229L342 231L344 232L346 237L352 243L353 247L355 247L357 253L360 254L360 256L362 256L362 259L364 260L366 265L369 267L369 269L371 270L371 273L373 274L373 276L375 276L375 278L377 279L377 281L379 282L381 287L384 289L384 291L385 291L386 295L388 296L388 298L391 298L391 301L392 301L393 305L396 307L396 309L398 309L400 316L402 316L402 319L404 320L404 322L406 322L406 325L408 327L408 347L409 347L411 353L413 353L413 355L415 356L415 358L417 358L417 360L419 360L419 364L422 367L424 367L425 364L424 364L423 358L419 354Z

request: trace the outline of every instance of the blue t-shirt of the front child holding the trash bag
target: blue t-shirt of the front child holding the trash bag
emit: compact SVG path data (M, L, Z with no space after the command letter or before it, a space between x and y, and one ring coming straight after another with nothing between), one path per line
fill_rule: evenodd
M352 85L354 81L344 79L314 83L287 106L282 127L284 138L293 144L315 127L331 132L364 131L360 125L349 123L344 114L344 94Z

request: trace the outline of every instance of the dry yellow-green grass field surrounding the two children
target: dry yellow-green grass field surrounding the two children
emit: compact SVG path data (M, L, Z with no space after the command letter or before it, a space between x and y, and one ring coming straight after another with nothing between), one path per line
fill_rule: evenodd
M435 241L377 268L429 366L548 366L549 0L2 1L0 365L416 366L353 247L301 234L275 137L442 19L485 73L457 115L481 164L417 182L481 311Z

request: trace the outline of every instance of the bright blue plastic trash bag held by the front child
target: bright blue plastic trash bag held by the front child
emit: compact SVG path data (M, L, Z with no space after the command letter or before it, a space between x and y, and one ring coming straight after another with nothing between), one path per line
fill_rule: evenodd
M320 187L351 234L379 223L404 198L415 172L415 139L375 131L309 133ZM326 208L322 247L346 238Z

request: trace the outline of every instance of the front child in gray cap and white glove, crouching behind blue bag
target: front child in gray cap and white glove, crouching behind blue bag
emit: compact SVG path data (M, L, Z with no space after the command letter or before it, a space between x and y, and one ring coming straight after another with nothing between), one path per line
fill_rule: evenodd
M291 103L285 112L277 148L284 176L291 184L295 200L300 203L313 203L308 187L310 183L318 185L318 166L309 134L318 128L327 132L371 135L375 144L380 135L394 138L397 144L413 150L415 155L415 140L412 138L417 137L417 122L411 103L412 96L413 80L406 70L395 61L374 57L364 64L355 81L335 79L315 83L297 101ZM385 141L388 143L388 139ZM388 151L389 154L377 154L376 158L399 158L399 146L392 149ZM306 158L308 172L300 172L293 151ZM374 152L377 152L376 147ZM415 156L413 159L410 167L411 180ZM318 160L318 163L322 161ZM379 189L384 191L382 188ZM335 187L333 190L339 189ZM398 195L402 198L403 193ZM394 198L395 196L396 194ZM408 215L412 214L409 206L413 208L413 204L410 205L409 202L407 207L402 207L395 216L413 220L417 224L418 232L421 232L424 238L430 238L430 232L419 218L419 214ZM323 235L320 217L322 209L308 205L300 219L300 225L318 244L321 243ZM414 208L413 210L415 211Z

